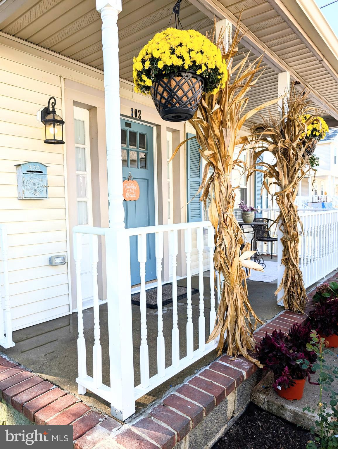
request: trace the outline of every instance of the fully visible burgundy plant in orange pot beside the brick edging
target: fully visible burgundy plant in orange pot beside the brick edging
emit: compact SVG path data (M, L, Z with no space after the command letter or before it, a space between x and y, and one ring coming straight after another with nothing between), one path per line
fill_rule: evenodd
M264 370L274 375L273 388L278 396L288 400L301 399L305 380L314 373L312 365L316 362L316 352L308 349L311 341L311 326L294 325L286 335L281 330L272 331L256 345L258 360Z

